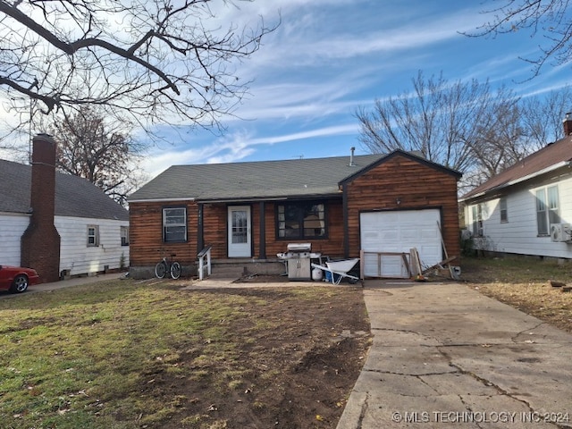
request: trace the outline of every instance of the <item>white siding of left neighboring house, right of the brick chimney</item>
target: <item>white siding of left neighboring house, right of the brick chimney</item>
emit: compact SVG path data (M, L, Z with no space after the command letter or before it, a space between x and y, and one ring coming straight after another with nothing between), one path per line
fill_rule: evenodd
M60 234L60 272L70 270L71 275L99 273L119 268L121 259L129 263L129 246L122 246L122 227L129 221L88 219L83 217L55 216L55 228ZM97 247L86 246L88 225L97 224Z

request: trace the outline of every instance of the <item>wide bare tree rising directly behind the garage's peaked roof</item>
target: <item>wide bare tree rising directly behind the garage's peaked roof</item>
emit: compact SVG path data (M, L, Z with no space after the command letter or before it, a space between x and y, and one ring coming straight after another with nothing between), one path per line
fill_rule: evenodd
M488 82L450 83L442 74L425 79L419 71L412 92L376 100L372 112L358 109L359 139L373 153L419 151L433 162L464 171L475 164L475 147L484 124L494 123L495 109L514 103L510 91L501 88L493 94Z

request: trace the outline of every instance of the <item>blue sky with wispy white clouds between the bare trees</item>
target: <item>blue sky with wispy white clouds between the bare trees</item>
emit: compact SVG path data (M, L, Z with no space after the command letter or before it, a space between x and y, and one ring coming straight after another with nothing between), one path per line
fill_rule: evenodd
M231 163L366 154L358 108L370 109L412 89L418 71L449 81L489 80L522 97L569 83L569 66L548 64L533 77L540 37L526 31L469 38L493 0L254 0L223 9L221 25L263 16L281 25L237 65L251 81L223 135L160 130L168 143L150 147L141 164L150 178L172 164ZM572 106L571 106L572 107ZM144 134L135 137L147 141Z

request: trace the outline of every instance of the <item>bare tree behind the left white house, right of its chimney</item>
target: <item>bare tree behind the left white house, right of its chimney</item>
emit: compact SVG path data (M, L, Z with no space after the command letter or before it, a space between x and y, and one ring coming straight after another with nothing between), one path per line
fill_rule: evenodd
M57 142L56 166L83 177L125 205L127 196L145 179L139 172L143 149L122 122L105 122L96 109L81 106L51 128Z

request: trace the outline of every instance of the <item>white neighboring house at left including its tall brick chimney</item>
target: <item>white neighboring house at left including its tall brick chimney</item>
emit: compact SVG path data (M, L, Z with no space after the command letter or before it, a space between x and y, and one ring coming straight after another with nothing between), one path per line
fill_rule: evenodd
M0 265L43 282L129 264L129 212L89 181L55 172L55 142L33 139L31 165L0 160Z

